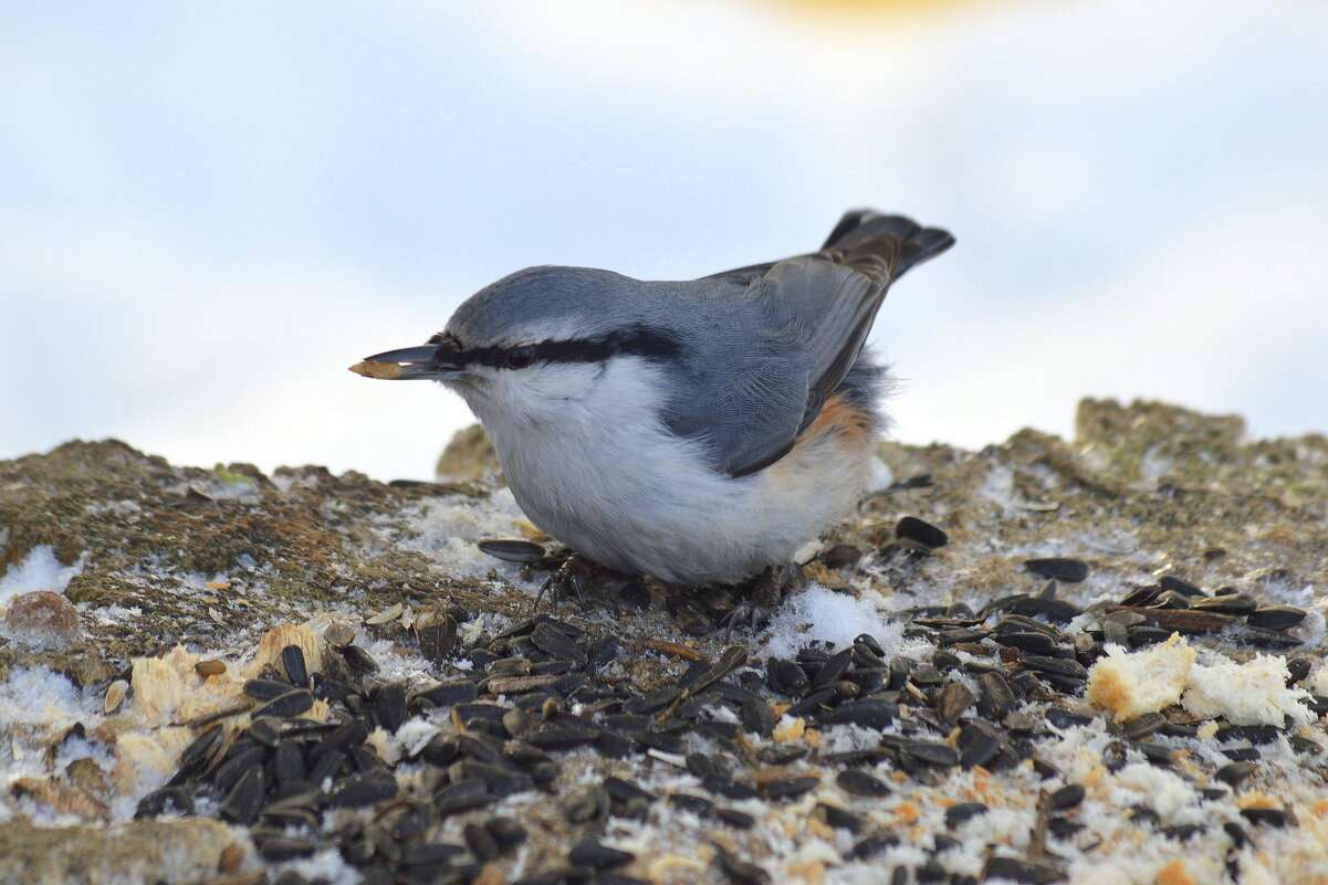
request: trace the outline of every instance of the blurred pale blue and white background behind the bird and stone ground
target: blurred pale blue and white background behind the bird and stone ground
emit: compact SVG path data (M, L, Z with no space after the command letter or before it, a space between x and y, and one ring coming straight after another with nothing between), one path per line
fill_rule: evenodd
M0 458L429 478L471 419L352 375L530 264L683 279L875 206L896 437L1084 395L1328 430L1328 5L0 8Z

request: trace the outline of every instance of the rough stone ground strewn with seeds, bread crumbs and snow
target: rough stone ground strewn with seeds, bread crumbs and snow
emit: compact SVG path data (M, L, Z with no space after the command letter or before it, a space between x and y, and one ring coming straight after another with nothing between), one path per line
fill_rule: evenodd
M523 625L552 559L477 551L485 537L547 539L473 433L445 454L458 479L442 484L175 467L117 441L0 462L0 881L1328 881L1328 439L1243 430L1236 417L1085 401L1073 441L882 443L894 482L811 551L811 586L754 634L716 628L730 590L598 579L584 605ZM1038 559L1074 564L1027 564ZM1086 577L1046 586L1038 568ZM1158 592L1177 588L1159 608ZM1202 602L1223 594L1259 614ZM1012 630L1023 638L1008 642ZM1046 649L1028 637L1040 630ZM1167 646L1173 630L1186 636ZM1187 649L1194 677L1129 714L1089 701L1085 677L1125 646ZM842 649L857 655L847 670ZM1175 662L1159 654L1121 669L1142 683L1126 690ZM244 679L284 678L293 693L292 679L309 685L296 667L316 674L312 703L251 716L263 701ZM1203 690L1201 674L1227 679L1231 697L1181 701ZM833 697L802 703L809 679ZM465 702L428 694L440 682L538 713L566 743L465 720ZM1005 690L1016 697L995 703ZM636 702L652 693L665 705ZM869 701L888 713L835 718ZM219 787L232 744L262 743L255 722L276 723L271 747L299 739L304 752L357 715L360 756L332 776L394 779L381 800L339 804L339 789L363 785L348 782L278 828ZM539 755L514 763L506 746L499 760L540 774L510 791L487 782L483 807L442 812L442 791L469 776L454 760L486 752L473 734L499 746L543 735ZM214 735L212 767L189 768L187 748ZM981 764L975 735L993 742ZM275 763L255 758L268 759L270 803ZM606 778L651 797L606 796ZM179 793L163 804L163 787L195 807ZM416 807L414 831L365 835ZM525 840L503 844L495 817ZM587 840L631 858L595 873L611 861L568 860ZM448 848L437 862L402 860L420 845Z

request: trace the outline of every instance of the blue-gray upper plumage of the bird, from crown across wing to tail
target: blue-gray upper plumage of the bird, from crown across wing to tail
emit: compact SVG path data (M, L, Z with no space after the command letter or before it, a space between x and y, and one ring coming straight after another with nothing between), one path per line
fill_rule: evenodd
M843 393L872 399L879 370L858 364L886 291L954 241L907 218L858 210L818 252L699 280L527 268L475 293L448 332L466 346L518 345L568 317L568 337L607 337L624 326L664 332L681 353L665 364L661 419L700 441L716 470L744 476L786 454L846 378Z

